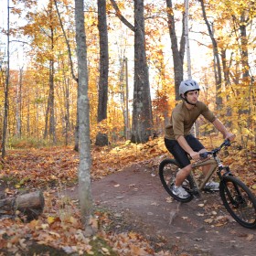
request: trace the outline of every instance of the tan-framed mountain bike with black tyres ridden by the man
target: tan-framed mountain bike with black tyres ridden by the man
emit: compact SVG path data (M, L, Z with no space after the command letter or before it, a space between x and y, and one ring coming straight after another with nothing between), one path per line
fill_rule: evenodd
M205 189L210 177L216 172L219 176L219 195L224 207L229 214L241 226L254 229L256 228L256 198L251 189L247 187L238 177L232 175L229 166L223 165L219 152L222 148L230 145L229 140L225 140L219 147L200 154L200 160L192 164L192 171L183 182L182 187L187 190L189 197L177 197L172 192L175 184L176 173L180 166L174 159L165 159L159 165L159 176L163 187L171 197L177 201L186 203L195 197L200 197ZM203 165L211 165L208 175L203 178L196 178L197 168Z

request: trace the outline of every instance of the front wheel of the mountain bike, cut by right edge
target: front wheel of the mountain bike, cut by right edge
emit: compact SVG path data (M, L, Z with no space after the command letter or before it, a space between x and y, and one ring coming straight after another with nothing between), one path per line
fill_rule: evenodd
M241 226L256 228L256 198L249 187L234 176L223 176L219 195L224 207Z

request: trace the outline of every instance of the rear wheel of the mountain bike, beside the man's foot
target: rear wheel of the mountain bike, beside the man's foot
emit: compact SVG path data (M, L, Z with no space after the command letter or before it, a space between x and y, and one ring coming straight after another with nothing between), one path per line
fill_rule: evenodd
M193 196L191 194L187 198L181 198L181 197L177 197L172 192L172 187L175 184L176 173L178 172L178 168L179 166L176 163L176 160L174 159L163 160L159 165L160 180L162 182L163 187L165 187L165 190L171 197L174 197L177 201L187 203L193 199ZM182 187L184 187L189 193L189 191L193 188L193 180L191 176L187 176L187 179L183 182Z

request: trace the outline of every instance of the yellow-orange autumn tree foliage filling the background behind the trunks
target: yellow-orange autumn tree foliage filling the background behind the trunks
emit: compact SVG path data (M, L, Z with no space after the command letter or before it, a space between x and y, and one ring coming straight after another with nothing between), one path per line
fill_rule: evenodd
M50 0L37 8L37 1L13 1L11 9L12 37L20 42L13 42L13 47L23 45L27 52L26 61L19 61L10 56L9 101L8 109L8 141L17 138L36 138L48 140L56 144L73 144L77 125L77 61L75 44L74 12L72 1L57 1L59 14L65 34L60 27L55 1ZM191 1L191 27L202 23L201 8ZM133 5L117 1L123 15L132 18ZM210 54L212 46L205 43L207 27L204 25L196 34L190 31L191 58L193 78L200 86L200 99L207 101L211 110L219 114L219 119L229 125L239 135L244 147L255 147L255 80L253 80L253 42L255 35L250 33L251 22L254 22L254 8L239 1L230 5L227 1L219 4L207 1L207 16L212 18L215 37L221 59L221 85L217 91L214 80L215 63ZM95 4L95 3L94 3ZM88 42L89 98L91 112L91 141L95 142L96 134L107 133L109 140L116 143L125 137L125 87L126 79L130 91L129 118L132 120L133 93L133 33L127 30L114 16L113 8L107 3L109 33L109 91L107 119L97 123L98 81L99 81L99 31L97 28L97 9L93 3L86 5L85 20ZM28 11L29 10L29 11ZM180 15L184 6L175 4L169 10L176 18L176 30L181 26ZM145 37L148 65L150 67L150 86L152 91L154 129L163 135L165 122L170 116L175 101L173 65L170 61L171 44L165 21L166 8L163 3L145 3ZM255 16L255 15L254 15ZM154 18L147 18L154 17ZM20 26L13 19L23 20ZM244 20L244 22L242 22ZM222 29L225 27L225 29ZM195 28L196 29L196 28ZM241 31L247 37L239 37ZM248 32L248 33L246 33ZM6 31L3 30L4 35ZM195 45L194 45L195 44ZM29 46L29 48L27 48ZM241 50L242 49L242 50ZM73 74L70 66L71 54ZM203 57L197 53L205 53ZM4 56L4 55L3 55ZM123 59L128 58L128 73L125 77ZM208 57L209 56L209 57ZM4 58L4 57L2 57ZM53 67L54 69L50 68ZM5 88L5 66L1 69L0 84ZM74 75L74 76L73 76ZM186 74L184 74L186 78ZM221 104L216 109L216 95ZM4 102L5 90L0 91L0 99ZM4 110L3 110L4 111ZM3 114L0 122L3 123ZM1 126L2 127L2 126ZM2 129L2 128L1 128ZM208 128L201 128L198 133L205 135ZM9 146L9 142L7 147Z

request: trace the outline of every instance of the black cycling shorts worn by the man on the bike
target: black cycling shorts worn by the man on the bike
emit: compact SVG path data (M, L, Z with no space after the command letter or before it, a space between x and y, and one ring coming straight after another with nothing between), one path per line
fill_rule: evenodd
M205 148L203 144L201 144L197 138L195 138L192 134L185 136L187 144L195 151L199 152L201 149ZM181 168L190 165L190 160L188 158L187 152L178 144L176 140L168 140L165 138L165 146L168 151L174 155L177 163Z

